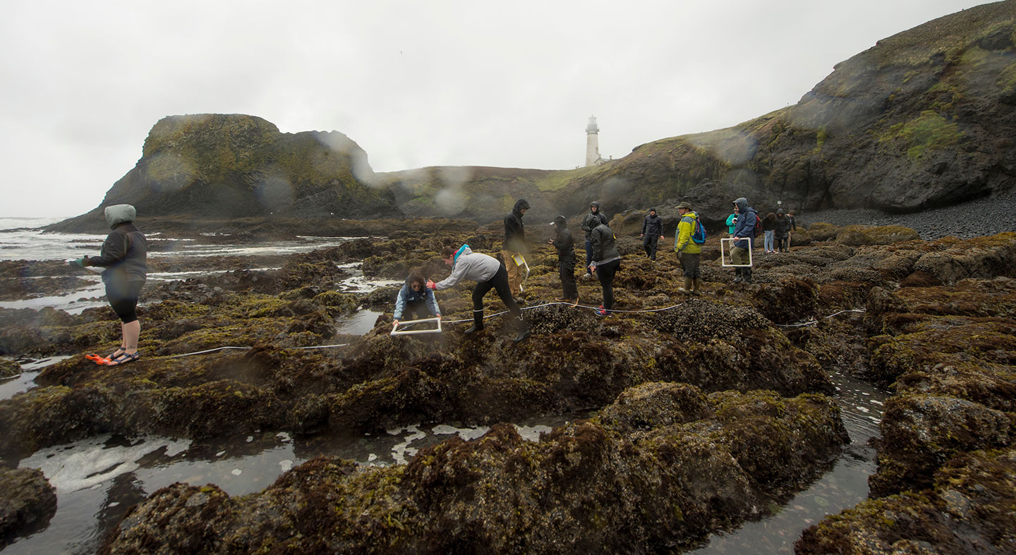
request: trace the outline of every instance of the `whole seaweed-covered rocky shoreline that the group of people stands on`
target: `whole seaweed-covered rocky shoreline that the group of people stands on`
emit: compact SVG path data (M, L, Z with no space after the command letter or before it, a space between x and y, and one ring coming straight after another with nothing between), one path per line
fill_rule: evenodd
M315 459L243 498L214 486L166 488L132 509L105 549L672 551L761 516L758 501L791 493L826 468L847 440L829 397L828 375L843 371L893 392L872 499L807 531L799 551L872 537L896 547L924 541L871 516L916 507L941 511L922 526L934 528L934 545L946 552L1004 551L1011 541L964 537L947 526L953 508L928 499L955 498L950 476L973 492L1005 486L969 469L1005 469L1013 460L1016 233L928 241L899 226L816 224L795 235L790 253L757 254L750 286L731 283L712 237L703 252L705 295L693 299L677 291L673 256L652 264L625 236L616 307L632 311L608 319L538 305L560 289L554 255L535 247L526 283L534 336L520 345L500 319L479 336L448 324L441 336L390 337L395 289L334 291L337 265L351 262L378 277L401 279L421 267L438 278L447 268L437 253L462 241L483 252L500 246L499 234L483 229L395 233L292 255L278 270L151 287L139 310L142 359L101 368L74 356L46 368L38 388L0 401L0 427L9 430L0 455L10 465L100 433L200 438L489 424L484 437L428 447L405 466ZM0 271L18 279L13 267ZM597 303L598 284L580 282L580 295ZM449 322L468 319L467 289L440 301ZM336 336L334 318L359 306L385 314L363 337ZM106 308L0 309L0 353L102 351L118 329ZM338 343L348 346L298 349ZM173 358L224 345L253 348ZM497 425L577 410L597 416L531 444ZM1009 516L991 512L1004 500L969 491L966 516L979 530L1006 530Z

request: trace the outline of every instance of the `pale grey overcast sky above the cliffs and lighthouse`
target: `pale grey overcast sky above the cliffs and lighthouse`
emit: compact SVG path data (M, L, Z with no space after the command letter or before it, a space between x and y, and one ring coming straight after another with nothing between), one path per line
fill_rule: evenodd
M797 102L964 0L5 0L0 216L98 206L161 118L340 131L375 171L567 169Z

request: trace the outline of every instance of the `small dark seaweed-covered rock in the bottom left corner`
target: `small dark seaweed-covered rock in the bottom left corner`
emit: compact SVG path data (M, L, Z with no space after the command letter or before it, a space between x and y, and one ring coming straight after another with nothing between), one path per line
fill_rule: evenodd
M0 549L49 524L57 494L39 469L0 469Z

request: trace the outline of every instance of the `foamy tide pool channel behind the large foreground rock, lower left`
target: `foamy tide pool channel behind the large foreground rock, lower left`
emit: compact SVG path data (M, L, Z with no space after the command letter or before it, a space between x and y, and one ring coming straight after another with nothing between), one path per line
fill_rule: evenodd
M534 419L516 424L516 429L535 441L552 427L586 416ZM361 465L400 464L452 434L474 438L488 429L416 424L380 434L298 437L259 431L215 442L107 435L47 447L19 466L43 469L57 487L57 512L46 530L16 540L4 553L92 553L131 505L174 482L215 484L230 495L244 495L261 491L283 472L317 456Z

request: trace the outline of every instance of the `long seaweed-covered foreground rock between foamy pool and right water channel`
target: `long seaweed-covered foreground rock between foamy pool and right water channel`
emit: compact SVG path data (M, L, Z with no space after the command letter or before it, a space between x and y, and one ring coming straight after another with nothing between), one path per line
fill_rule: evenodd
M105 550L152 543L238 552L675 550L752 516L760 496L814 476L844 440L835 403L821 396L731 394L704 404L704 419L680 424L691 414L668 416L666 407L677 397L702 397L676 392L647 385L627 396L641 401L623 402L629 409L621 412L661 424L632 438L595 419L538 442L499 424L469 442L425 447L404 466L314 459L244 497L174 485L128 514ZM731 418L712 419L716 410ZM738 427L739 419L752 426ZM786 432L749 455L735 440L749 429ZM788 460L788 452L812 459Z

